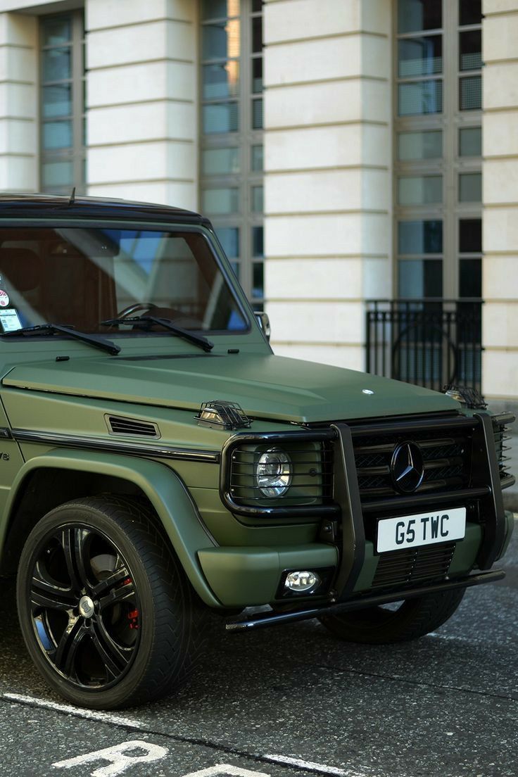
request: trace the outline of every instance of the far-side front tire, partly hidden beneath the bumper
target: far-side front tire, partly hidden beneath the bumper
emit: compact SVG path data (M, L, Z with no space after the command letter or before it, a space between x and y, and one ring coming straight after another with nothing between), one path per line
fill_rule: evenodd
M426 594L398 606L370 607L363 610L322 615L320 622L346 642L387 645L407 642L435 631L461 604L465 588Z

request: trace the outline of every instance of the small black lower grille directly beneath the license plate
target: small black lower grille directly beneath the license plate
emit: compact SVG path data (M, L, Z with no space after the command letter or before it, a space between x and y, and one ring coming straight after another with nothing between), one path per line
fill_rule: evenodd
M450 569L455 543L381 553L373 588L417 584L444 577Z

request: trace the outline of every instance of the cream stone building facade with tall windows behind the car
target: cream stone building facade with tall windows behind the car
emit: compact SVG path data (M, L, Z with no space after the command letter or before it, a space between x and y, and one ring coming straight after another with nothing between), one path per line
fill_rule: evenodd
M481 297L518 399L518 0L0 0L0 190L207 212L276 353ZM466 303L468 304L468 303Z

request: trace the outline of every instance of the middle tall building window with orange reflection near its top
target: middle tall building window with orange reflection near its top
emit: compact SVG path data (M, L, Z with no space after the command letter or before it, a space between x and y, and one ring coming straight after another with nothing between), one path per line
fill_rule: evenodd
M201 0L200 203L262 310L262 0Z

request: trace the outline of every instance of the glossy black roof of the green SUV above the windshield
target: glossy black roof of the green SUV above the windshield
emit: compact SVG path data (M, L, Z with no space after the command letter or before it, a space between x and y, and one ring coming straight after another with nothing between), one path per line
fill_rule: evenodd
M210 225L199 213L151 202L57 194L0 194L0 220L5 218L110 218L174 221Z

